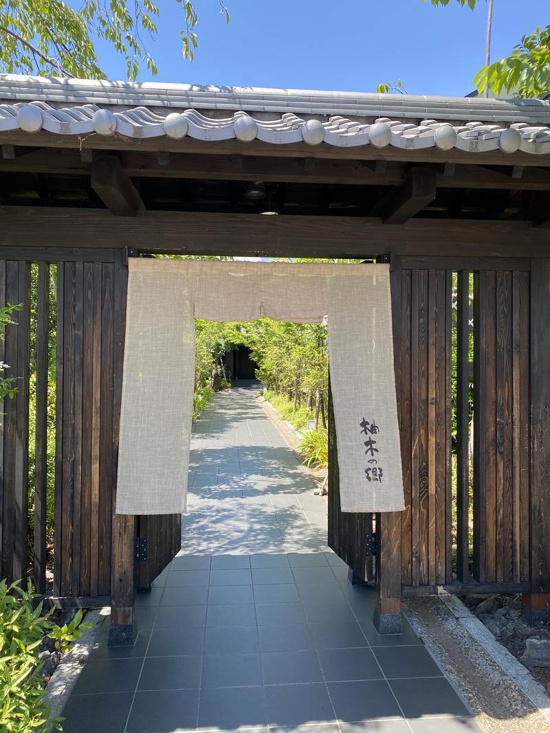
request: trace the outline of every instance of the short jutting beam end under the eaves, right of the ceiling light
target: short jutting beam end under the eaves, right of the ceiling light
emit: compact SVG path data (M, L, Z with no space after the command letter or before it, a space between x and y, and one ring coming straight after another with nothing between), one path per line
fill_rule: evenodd
M384 224L405 224L436 198L436 174L428 168L411 168L405 183L389 191L375 206Z

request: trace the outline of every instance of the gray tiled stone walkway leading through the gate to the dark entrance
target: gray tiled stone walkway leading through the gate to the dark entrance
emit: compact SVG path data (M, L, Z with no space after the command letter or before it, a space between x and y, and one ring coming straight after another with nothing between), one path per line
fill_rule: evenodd
M182 550L138 597L133 648L107 630L65 733L480 732L419 638L378 636L374 593L326 545L326 499L251 388L194 427Z

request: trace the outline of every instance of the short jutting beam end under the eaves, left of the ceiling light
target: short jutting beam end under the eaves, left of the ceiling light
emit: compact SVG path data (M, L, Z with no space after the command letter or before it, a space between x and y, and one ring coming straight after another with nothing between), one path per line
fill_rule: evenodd
M144 205L130 178L122 171L116 155L92 163L91 185L114 216L136 216Z

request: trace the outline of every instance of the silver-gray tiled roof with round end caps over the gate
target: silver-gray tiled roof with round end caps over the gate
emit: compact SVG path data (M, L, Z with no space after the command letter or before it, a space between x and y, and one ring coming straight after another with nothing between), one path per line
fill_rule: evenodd
M0 131L18 129L540 154L550 103L0 75Z

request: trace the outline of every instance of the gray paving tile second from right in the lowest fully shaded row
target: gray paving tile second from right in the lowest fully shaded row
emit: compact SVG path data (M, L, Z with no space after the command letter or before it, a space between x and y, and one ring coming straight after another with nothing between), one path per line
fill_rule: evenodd
M403 717L392 690L384 679L329 682L329 692L339 721Z

